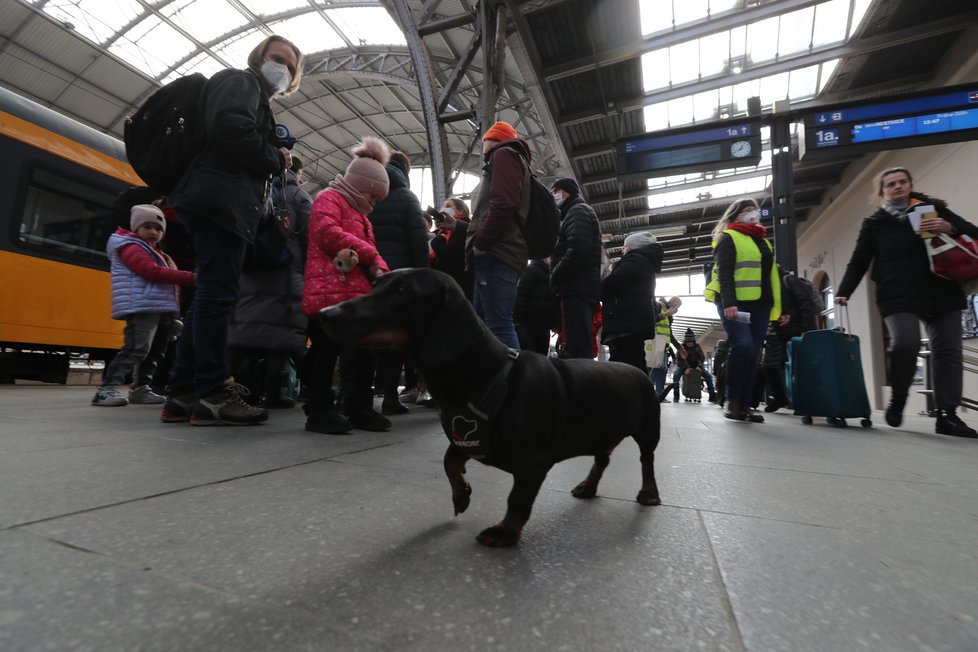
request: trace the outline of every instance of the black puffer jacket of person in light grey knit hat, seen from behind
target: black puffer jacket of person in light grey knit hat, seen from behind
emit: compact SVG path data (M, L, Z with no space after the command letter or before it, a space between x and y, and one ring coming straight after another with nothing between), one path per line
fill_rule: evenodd
M625 335L655 337L655 275L662 253L658 243L632 249L601 281L602 343Z

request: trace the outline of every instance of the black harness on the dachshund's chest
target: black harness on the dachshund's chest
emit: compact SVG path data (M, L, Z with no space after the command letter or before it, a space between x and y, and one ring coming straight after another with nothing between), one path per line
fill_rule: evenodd
M489 454L493 424L509 392L509 371L520 354L516 349L509 349L507 353L506 362L478 400L469 401L461 411L443 409L441 412L441 425L449 441L476 460Z

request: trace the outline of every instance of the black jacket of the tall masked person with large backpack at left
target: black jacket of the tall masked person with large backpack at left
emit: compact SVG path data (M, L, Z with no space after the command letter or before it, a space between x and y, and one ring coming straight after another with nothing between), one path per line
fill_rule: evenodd
M207 144L169 204L253 242L268 182L285 170L285 157L272 145L268 89L250 68L222 70L207 82L201 104Z

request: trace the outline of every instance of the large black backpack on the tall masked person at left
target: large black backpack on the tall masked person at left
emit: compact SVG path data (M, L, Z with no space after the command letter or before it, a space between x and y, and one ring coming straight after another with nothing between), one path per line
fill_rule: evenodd
M126 158L155 192L168 194L204 149L200 100L207 78L199 72L163 86L126 120Z

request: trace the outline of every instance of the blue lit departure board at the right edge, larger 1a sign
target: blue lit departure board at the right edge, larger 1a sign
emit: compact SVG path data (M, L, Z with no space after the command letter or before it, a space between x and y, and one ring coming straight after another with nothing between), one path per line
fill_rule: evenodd
M803 114L803 121L803 156L973 140L978 138L978 83L814 109Z

